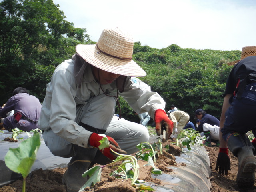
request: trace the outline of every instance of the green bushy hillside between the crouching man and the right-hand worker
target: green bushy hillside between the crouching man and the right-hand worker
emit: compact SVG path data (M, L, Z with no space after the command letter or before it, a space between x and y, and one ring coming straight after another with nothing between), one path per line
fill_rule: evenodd
M134 44L133 59L147 72L140 78L166 101L166 111L174 104L190 114L203 108L220 117L226 80L232 66L226 63L240 59L241 52L182 49L176 44L153 49Z

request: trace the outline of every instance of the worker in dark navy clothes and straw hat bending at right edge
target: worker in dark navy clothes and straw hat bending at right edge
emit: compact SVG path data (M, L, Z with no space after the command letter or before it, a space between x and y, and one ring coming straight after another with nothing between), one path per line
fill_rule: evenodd
M242 48L241 60L228 64L234 64L234 67L224 93L216 170L219 169L220 174L228 174L229 149L238 157L238 186L251 187L255 183L255 144L250 142L246 133L252 130L256 136L256 46Z

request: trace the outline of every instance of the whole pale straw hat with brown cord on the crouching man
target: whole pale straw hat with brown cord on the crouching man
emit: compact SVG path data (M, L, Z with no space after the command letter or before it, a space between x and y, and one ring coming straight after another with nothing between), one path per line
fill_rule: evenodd
M77 45L76 52L92 66L104 71L124 76L146 76L146 72L132 60L132 36L120 28L104 29L96 45Z

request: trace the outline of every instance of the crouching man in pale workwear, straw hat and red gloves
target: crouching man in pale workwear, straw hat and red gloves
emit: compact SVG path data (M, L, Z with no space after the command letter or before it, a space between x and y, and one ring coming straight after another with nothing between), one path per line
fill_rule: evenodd
M77 45L76 52L56 68L47 84L39 122L52 154L72 157L62 180L68 192L80 190L87 180L82 174L95 163L116 159L111 150L132 154L137 144L148 141L145 126L114 116L116 103L120 112L118 96L138 114L148 112L158 136L162 124L166 138L173 127L164 100L135 78L146 72L132 60L129 34L119 28L104 29L96 45ZM104 137L110 147L99 150Z

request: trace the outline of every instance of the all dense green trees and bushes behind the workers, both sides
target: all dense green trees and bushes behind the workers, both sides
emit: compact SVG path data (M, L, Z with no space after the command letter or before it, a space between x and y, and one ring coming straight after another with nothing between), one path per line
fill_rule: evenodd
M0 102L4 104L18 86L42 102L55 67L71 58L76 44L96 42L90 40L86 28L66 21L52 0L3 0L0 7ZM147 72L140 79L166 101L166 111L174 104L194 122L197 108L220 117L232 68L226 63L240 55L238 50L183 49L176 44L156 49L135 42L133 59ZM123 118L140 121L122 98L120 104Z

